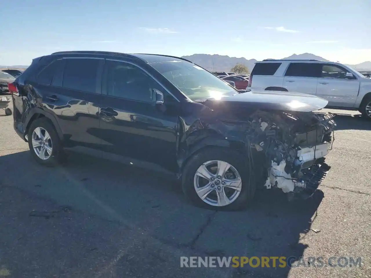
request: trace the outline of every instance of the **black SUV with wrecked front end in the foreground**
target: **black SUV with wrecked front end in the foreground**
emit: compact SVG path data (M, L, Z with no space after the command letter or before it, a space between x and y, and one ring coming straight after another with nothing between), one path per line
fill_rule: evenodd
M257 187L310 196L328 170L335 123L311 112L326 100L241 93L182 58L57 52L9 90L14 129L37 162L74 149L172 173L196 205L239 209Z

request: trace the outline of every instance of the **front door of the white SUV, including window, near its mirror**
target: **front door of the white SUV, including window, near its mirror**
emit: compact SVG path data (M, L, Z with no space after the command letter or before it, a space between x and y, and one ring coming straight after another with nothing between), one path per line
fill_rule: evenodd
M317 96L328 100L328 106L354 107L360 81L344 67L334 64L321 64L321 77L318 79Z

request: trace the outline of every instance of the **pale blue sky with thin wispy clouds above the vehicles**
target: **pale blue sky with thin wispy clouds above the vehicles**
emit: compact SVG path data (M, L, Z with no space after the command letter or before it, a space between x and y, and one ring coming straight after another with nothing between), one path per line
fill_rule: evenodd
M371 60L370 0L7 0L1 13L0 65L61 50Z

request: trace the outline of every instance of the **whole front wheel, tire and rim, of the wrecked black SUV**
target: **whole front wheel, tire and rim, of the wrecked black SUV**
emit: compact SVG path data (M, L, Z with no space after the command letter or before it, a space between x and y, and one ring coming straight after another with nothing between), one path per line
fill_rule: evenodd
M239 210L255 193L247 159L231 149L207 148L183 171L183 192L192 203L215 210Z

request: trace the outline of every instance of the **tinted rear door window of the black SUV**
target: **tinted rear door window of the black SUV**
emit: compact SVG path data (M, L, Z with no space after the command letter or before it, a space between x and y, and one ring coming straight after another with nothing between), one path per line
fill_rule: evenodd
M97 59L67 59L63 72L63 87L95 93L99 67Z

